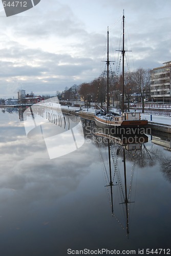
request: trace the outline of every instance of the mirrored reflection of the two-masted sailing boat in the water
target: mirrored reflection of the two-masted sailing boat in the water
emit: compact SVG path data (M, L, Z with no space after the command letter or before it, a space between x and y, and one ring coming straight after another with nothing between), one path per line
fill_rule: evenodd
M96 133L96 141L99 147L100 159L102 161L104 177L106 181L105 187L108 189L108 196L111 203L112 216L115 217L118 223L121 225L123 229L126 229L126 235L128 236L129 230L129 217L130 217L130 204L134 203L132 201L132 186L133 186L133 176L135 169L135 158L137 158L137 151L142 151L142 147L144 143L148 142L148 137L145 134L110 134L103 133L103 131L99 131L97 129ZM104 144L106 146L104 147ZM105 150L104 150L105 148ZM107 152L106 152L107 149ZM104 152L105 151L105 152ZM141 155L141 154L140 154ZM104 159L106 156L106 160ZM121 162L123 166L119 165L119 156L121 156ZM126 156L133 161L130 175L130 184L128 186L127 182L127 171L126 171ZM106 164L108 163L108 164ZM120 168L123 169L123 172ZM113 186L117 186L116 190ZM114 206L114 201L116 202L116 198L114 197L118 195L119 188L119 198L118 204L122 207L122 214L124 216L124 225L122 221L120 221L121 216L118 213L117 205ZM115 214L116 210L116 214ZM117 216L119 214L119 217Z

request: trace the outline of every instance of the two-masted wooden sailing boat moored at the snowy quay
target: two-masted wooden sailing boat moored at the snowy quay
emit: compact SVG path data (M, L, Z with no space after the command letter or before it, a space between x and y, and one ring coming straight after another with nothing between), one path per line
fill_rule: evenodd
M114 111L109 110L109 28L108 28L108 52L107 52L107 110L103 109L95 112L95 123L100 127L112 128L115 126L122 127L142 127L148 124L147 120L142 120L139 112L123 112L124 111L124 14L123 14L123 47L122 53L122 114L118 115Z

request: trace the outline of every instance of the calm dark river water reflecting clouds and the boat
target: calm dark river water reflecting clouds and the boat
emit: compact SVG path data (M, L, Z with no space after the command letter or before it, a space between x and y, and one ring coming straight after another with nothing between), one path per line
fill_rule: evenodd
M10 111L0 112L1 256L171 253L167 135L140 134L140 144L122 146L114 134L109 140L97 131L93 121L82 119L74 134L78 117L55 121L51 113L44 113L49 120L40 134L38 128L29 133L32 113Z

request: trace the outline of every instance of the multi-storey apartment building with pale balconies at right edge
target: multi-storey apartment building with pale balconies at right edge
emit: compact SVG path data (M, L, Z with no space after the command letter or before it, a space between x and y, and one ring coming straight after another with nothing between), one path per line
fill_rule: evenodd
M170 101L171 61L163 64L165 66L151 70L151 97L155 101Z

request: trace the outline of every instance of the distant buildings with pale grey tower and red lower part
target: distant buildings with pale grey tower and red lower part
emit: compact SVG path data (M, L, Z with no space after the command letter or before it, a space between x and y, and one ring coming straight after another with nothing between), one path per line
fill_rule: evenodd
M18 90L18 102L19 103L38 103L41 100L44 100L41 96L34 96L33 93L27 93L25 90Z

